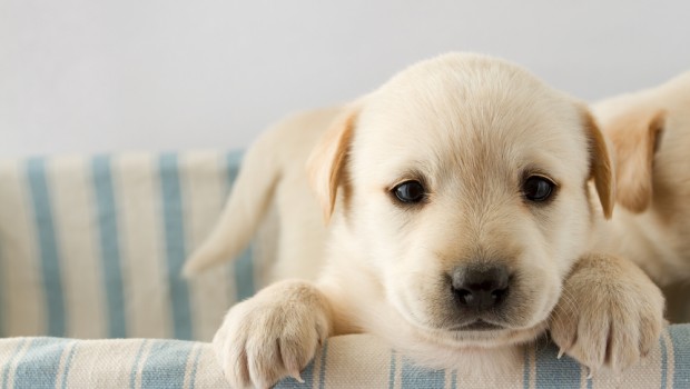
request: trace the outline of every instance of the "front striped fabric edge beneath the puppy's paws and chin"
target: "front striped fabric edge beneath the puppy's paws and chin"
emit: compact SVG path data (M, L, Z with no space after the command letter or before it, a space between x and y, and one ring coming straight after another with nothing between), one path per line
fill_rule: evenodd
M366 335L331 338L302 373L277 388L690 388L690 325L670 327L645 362L620 377L586 379L548 343L525 349L512 373L483 380L425 370ZM179 340L0 340L4 388L226 388L208 343Z

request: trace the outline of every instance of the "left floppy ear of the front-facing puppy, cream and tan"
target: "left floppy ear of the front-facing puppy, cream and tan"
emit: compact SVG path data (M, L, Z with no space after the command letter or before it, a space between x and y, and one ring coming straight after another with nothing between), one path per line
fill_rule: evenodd
M354 132L357 110L347 109L322 136L307 160L312 188L321 203L326 222L335 208L338 186L343 183L347 153Z

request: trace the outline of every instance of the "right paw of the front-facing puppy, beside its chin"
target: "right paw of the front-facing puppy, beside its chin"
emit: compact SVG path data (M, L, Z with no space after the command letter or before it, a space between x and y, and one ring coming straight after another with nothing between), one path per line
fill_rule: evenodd
M635 265L591 255L563 285L551 316L555 343L590 368L621 371L644 357L663 328L663 296Z

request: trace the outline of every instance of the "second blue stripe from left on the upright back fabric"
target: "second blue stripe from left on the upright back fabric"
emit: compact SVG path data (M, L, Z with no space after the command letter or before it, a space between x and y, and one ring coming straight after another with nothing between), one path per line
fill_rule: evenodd
M127 337L127 319L120 263L120 239L117 227L118 209L115 202L110 166L110 157L99 156L93 158L91 170L98 207L100 258L108 301L108 333L110 338L125 338Z

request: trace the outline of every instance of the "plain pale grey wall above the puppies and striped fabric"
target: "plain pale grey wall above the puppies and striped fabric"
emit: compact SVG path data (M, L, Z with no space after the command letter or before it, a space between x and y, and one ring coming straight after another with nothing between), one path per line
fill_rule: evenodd
M456 50L594 101L690 69L690 2L0 0L0 157L243 148Z

